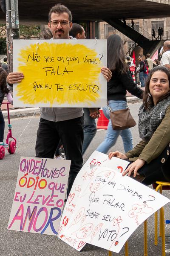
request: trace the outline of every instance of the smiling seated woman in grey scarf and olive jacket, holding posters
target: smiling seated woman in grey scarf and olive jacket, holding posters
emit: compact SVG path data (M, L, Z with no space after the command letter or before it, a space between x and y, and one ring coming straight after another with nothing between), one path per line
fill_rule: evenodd
M141 142L123 154L113 156L127 159L130 164L123 173L145 185L155 181L170 182L170 71L154 67L149 74L139 108L139 136Z

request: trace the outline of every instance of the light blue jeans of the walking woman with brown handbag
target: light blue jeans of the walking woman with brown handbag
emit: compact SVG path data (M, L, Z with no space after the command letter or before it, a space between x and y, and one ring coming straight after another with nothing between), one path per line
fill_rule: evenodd
M112 111L127 108L127 102L122 100L110 100L108 103ZM106 154L108 150L116 143L119 135L122 137L125 152L132 150L133 140L130 129L120 131L113 130L108 107L103 108L103 113L109 119L108 129L104 141L98 146L96 150Z

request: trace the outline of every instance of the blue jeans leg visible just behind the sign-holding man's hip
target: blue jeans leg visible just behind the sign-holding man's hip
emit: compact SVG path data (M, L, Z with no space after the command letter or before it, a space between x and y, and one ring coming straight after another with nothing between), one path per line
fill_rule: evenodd
M96 128L96 122L95 119L91 118L90 111L88 108L84 108L84 140L82 145L82 154L85 153L86 149L88 148L88 145L93 140L97 128Z

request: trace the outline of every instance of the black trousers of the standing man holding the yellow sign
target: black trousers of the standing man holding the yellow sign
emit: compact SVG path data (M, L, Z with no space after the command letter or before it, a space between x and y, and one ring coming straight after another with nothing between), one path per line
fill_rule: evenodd
M37 131L36 157L54 158L54 153L61 139L66 159L71 160L67 196L79 170L82 168L83 119L84 117L81 116L65 121L52 122L40 118Z

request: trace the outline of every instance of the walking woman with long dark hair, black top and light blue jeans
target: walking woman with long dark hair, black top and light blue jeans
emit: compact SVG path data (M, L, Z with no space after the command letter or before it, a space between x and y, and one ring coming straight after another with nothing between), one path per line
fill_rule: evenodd
M112 71L112 77L107 83L108 107L103 108L103 113L109 119L109 123L105 139L96 149L105 154L116 143L119 135L122 137L125 152L133 148L130 129L113 130L109 108L111 111L127 108L126 90L140 99L142 99L143 94L143 90L133 82L128 71L122 39L119 35L111 35L107 40L107 45L107 66Z

